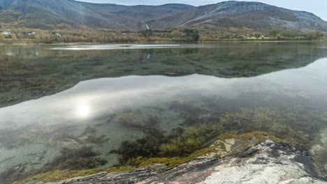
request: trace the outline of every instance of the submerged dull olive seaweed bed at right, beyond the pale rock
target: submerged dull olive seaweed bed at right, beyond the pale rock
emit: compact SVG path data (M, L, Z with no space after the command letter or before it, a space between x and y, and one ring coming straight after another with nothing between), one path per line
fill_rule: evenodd
M298 108L284 110L258 107L226 113L219 118L224 129L231 132L265 131L291 144L305 145L314 141L319 128L326 126L320 112Z

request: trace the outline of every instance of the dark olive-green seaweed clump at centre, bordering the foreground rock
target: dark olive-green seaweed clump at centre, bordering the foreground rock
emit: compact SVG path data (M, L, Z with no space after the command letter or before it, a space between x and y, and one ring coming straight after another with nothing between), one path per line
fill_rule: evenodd
M135 158L184 158L200 150L210 139L223 132L219 125L215 124L194 125L184 131L176 130L171 135L154 131L142 139L124 141L118 149L110 153L119 154L119 165L129 163ZM182 134L176 135L176 132Z

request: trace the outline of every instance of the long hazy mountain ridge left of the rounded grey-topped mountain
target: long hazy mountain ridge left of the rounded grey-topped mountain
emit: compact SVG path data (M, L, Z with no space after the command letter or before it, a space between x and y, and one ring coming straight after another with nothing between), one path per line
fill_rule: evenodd
M48 29L54 24L145 29L144 22L193 6L121 6L73 0L0 0L0 24Z

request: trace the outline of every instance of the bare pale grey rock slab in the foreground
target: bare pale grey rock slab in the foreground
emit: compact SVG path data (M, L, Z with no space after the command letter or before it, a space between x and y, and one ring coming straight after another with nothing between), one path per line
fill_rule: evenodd
M226 139L224 144L225 152L218 149L173 169L165 168L166 171L153 167L126 173L105 172L59 183L327 183L310 154L289 144L270 139L261 143L256 139Z

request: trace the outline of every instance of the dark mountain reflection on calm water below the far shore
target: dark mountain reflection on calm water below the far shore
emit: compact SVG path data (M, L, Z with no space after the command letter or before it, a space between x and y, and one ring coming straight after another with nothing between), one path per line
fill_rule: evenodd
M88 79L194 73L226 78L252 77L303 67L327 54L326 49L318 49L317 45L303 44L182 45L110 50L49 50L47 48L52 46L44 47L0 47L0 107L57 93Z

